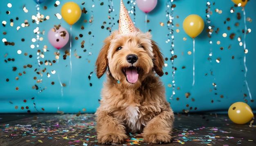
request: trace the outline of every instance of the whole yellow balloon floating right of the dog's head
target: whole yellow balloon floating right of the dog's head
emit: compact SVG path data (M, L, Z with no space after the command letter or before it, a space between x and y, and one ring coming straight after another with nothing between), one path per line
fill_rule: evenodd
M195 38L203 31L204 20L199 15L189 15L183 21L183 29L191 38Z

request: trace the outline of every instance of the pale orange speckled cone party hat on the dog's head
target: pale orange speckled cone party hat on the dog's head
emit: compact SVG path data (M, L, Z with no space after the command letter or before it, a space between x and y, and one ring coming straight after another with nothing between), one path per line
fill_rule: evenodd
M124 6L123 0L120 3L120 12L119 12L119 34L127 34L137 32L136 27L134 26L126 7Z

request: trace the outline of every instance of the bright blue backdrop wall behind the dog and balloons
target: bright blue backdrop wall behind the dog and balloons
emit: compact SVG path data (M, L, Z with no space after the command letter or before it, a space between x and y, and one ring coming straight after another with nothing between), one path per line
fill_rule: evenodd
M76 0L82 15L72 29L61 18L68 1L1 2L0 113L96 111L105 76L97 79L94 64L104 38L118 29L120 1ZM238 101L256 109L255 0L245 9L231 0L158 0L147 14L135 0L124 4L162 49L161 78L175 112L227 111ZM190 14L204 20L195 46L182 28ZM47 34L59 24L72 36L57 50Z

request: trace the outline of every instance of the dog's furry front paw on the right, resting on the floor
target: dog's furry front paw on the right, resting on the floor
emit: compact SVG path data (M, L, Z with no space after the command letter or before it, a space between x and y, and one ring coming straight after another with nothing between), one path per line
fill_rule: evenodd
M144 133L143 141L148 144L164 144L171 142L171 135L161 133Z

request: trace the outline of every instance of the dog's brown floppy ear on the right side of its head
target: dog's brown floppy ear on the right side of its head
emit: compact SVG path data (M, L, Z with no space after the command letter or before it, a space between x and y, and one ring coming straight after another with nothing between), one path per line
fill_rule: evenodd
M157 46L156 42L151 40L152 49L153 49L153 64L154 64L154 70L160 77L164 75L163 72L163 66L164 66L164 58L162 56L162 53L159 50L159 47Z

